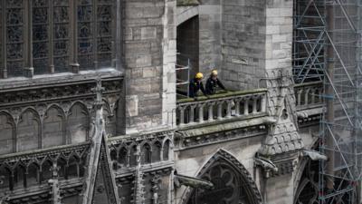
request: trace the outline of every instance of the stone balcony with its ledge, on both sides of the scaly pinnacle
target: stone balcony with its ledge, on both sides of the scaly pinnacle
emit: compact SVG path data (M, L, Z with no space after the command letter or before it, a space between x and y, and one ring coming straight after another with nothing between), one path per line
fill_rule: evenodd
M323 105L322 83L296 84L294 90L300 126L317 124ZM275 121L267 112L267 97L267 89L255 89L179 99L176 149L266 134L266 126Z

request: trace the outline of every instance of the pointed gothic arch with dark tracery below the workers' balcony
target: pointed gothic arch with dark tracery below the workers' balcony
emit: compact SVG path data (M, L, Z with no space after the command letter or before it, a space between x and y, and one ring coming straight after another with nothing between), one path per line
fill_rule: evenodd
M214 183L214 189L204 191L187 188L181 204L194 204L197 203L194 201L198 199L202 199L207 204L240 203L241 201L247 204L262 204L262 195L249 171L227 151L217 151L199 170L196 177L210 180Z

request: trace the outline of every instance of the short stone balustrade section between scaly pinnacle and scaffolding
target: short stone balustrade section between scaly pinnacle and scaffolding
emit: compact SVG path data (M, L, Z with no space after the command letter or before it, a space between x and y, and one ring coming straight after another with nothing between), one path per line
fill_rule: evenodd
M296 84L294 92L298 110L319 107L322 104L322 82Z

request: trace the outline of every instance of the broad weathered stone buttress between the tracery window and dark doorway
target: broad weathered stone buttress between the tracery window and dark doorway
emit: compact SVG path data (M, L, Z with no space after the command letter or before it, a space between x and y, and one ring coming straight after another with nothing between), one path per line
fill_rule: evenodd
M124 1L126 127L143 131L172 121L176 1ZM172 68L172 69L171 69ZM164 102L166 101L166 102ZM169 118L169 120L167 120Z

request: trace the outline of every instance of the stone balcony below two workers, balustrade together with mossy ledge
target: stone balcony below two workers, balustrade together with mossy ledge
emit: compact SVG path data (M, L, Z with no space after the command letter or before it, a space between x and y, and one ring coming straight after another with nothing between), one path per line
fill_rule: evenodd
M266 133L267 89L180 99L176 104L176 150Z

